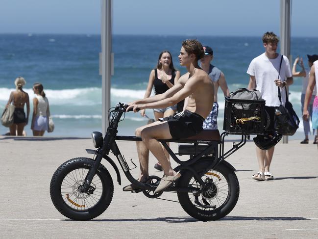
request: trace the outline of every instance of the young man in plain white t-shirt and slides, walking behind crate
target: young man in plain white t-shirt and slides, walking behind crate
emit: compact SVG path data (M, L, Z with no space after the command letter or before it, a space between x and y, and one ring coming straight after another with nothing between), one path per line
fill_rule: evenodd
M279 53L276 53L278 41L278 37L273 32L266 32L263 35L263 46L265 48L265 53L255 57L249 64L246 72L250 76L248 89L259 90L262 94L262 98L266 100L265 108L269 113L270 118L268 130L274 130L275 107L280 105L277 86L280 87L282 103L285 105L286 93L283 87L291 85L294 82L288 58L283 56L282 59L282 56ZM273 157L273 153L274 146L268 150L263 150L256 147L259 172L252 176L253 179L264 181L272 180L274 178L269 172L269 166Z

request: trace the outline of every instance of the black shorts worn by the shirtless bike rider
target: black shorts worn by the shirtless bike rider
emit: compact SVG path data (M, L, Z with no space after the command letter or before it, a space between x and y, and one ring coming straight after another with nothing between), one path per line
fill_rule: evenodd
M200 133L203 130L204 118L199 114L184 110L176 115L165 117L160 121L168 121L172 138L180 139Z

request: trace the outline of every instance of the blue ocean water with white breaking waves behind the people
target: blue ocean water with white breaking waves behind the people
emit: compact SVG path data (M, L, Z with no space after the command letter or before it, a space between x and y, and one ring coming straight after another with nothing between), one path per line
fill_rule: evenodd
M230 91L247 87L247 67L250 61L264 52L261 37L214 36L113 36L114 76L111 80L111 106L143 98L150 70L162 50L172 53L172 60L181 74L186 69L178 62L181 42L196 38L214 50L212 64L224 73ZM300 55L307 66L306 54L318 53L318 38L297 37L291 40L291 53ZM92 131L101 131L101 76L98 74L99 35L0 34L0 111L9 94L15 89L14 80L26 80L24 90L30 103L34 94L32 84L41 82L49 99L55 123L51 136L89 137ZM290 101L301 116L301 79L295 78L290 87ZM222 131L224 98L219 99L219 130ZM31 105L31 112L33 106ZM153 118L151 109L146 114ZM29 118L31 121L31 116ZM121 122L119 133L133 135L137 127L147 123L139 113L129 112ZM303 138L302 122L291 139ZM8 131L0 126L0 134ZM25 127L32 135L30 124Z

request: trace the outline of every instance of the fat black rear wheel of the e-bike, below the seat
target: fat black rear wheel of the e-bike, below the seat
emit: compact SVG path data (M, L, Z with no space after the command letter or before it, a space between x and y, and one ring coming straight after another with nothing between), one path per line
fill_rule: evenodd
M181 207L198 220L217 220L233 210L240 194L239 181L232 169L219 164L208 171L199 172L205 186L201 193L178 192ZM187 170L178 180L179 187L202 187Z

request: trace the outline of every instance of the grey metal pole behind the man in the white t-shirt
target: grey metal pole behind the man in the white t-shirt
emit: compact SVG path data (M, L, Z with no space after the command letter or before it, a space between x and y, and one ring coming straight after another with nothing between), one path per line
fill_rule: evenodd
M291 0L280 0L280 53L291 61ZM283 143L288 143L288 136L283 136Z

